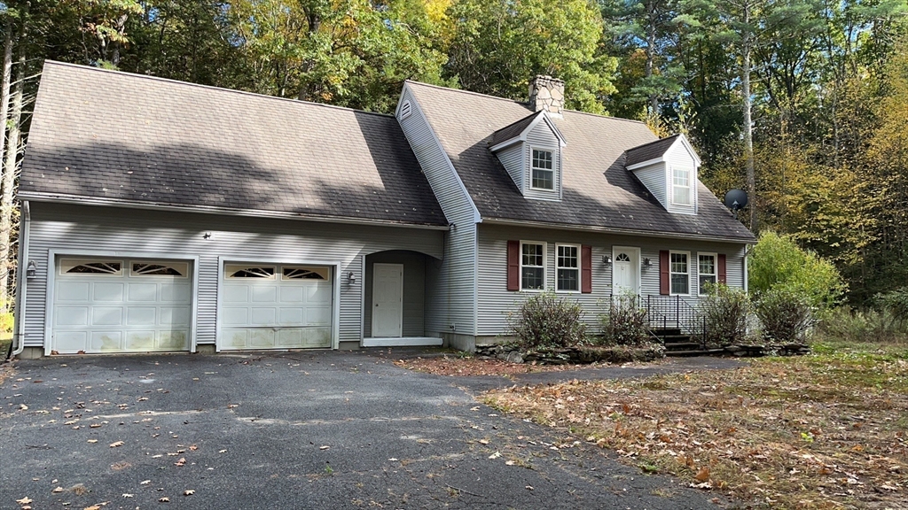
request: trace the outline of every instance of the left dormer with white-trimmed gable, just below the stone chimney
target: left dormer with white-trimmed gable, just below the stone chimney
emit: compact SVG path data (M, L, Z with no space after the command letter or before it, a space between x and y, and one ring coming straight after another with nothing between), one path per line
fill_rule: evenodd
M561 150L567 145L547 111L492 133L489 151L528 199L561 200Z

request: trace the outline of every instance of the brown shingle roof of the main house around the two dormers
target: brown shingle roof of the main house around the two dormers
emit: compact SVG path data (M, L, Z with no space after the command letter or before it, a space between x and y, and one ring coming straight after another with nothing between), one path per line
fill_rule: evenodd
M673 214L626 170L628 149L657 141L644 123L563 112L562 119L553 119L568 141L563 152L563 199L528 200L489 152L493 133L531 114L528 104L408 84L483 218L754 240L703 184L698 188L698 213Z

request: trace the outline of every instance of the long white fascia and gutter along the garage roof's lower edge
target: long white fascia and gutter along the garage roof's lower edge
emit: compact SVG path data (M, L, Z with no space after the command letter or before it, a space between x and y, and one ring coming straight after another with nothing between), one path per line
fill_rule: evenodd
M142 209L147 211L202 212L206 214L221 214L224 216L243 216L247 218L274 218L281 220L317 221L322 223L346 223L351 225L381 225L386 227L400 227L404 229L449 230L449 226L447 225L423 225L419 223L402 223L390 220L367 220L364 218L317 216L293 212L260 211L256 209L232 209L227 207L215 207L209 205L183 206L159 202L109 200L96 197L84 197L80 195L65 195L62 193L25 192L19 193L19 197L23 200L35 202L70 203L76 205L94 206L101 205L107 207L121 207L123 209Z

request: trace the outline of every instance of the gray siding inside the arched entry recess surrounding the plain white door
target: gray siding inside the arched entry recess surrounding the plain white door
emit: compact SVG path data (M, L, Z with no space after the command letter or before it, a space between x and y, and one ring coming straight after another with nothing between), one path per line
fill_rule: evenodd
M383 251L366 257L366 299L363 301L363 330L365 338L372 336L372 264L403 264L403 324L404 337L422 337L426 334L426 258L412 251Z

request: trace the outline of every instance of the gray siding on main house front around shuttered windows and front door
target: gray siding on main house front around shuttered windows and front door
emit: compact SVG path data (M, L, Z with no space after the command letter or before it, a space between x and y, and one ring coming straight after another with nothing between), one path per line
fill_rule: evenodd
M726 281L729 286L744 287L743 260L745 245L735 243L707 242L696 240L672 240L634 236L618 236L605 233L534 228L512 228L499 225L479 226L479 316L478 335L494 336L506 334L507 314L516 311L519 304L532 292L508 291L508 240L533 240L547 243L546 286L555 289L556 244L589 245L593 250L591 294L564 293L568 299L581 303L586 310L585 320L597 330L597 316L604 311L604 303L611 295L611 266L602 263L604 255L611 256L614 246L640 248L640 257L648 258L652 266L640 270L641 295L659 294L659 250L690 251L691 290L693 295L685 299L696 304L696 260L697 252L725 253Z

